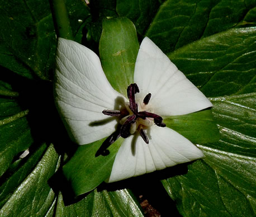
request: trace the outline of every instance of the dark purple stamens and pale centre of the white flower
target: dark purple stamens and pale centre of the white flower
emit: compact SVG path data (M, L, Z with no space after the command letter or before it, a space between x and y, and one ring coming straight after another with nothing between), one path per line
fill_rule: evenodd
M163 118L161 116L151 112L152 108L148 105L151 98L151 93L148 93L148 95L144 97L143 102L139 101L139 105L136 103L135 94L139 92L139 87L136 85L136 83L132 83L127 87L127 96L129 98L129 102L125 103L124 109L102 111L104 115L120 117L120 125L118 125L117 130L108 136L103 142L101 148L97 151L96 156L106 155L107 147L113 144L113 142L115 142L120 136L127 138L137 131L140 132L140 136L143 138L146 144L149 144L149 139L145 130L153 124L159 127L166 126L162 122Z

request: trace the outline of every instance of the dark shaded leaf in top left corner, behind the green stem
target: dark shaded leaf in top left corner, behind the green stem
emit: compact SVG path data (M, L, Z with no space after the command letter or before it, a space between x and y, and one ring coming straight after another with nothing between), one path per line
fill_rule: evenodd
M78 0L75 4L67 1L67 5L70 14L75 15L72 16L74 35L80 35L80 26L88 17L88 9L83 1ZM78 8L83 12L75 12ZM27 78L39 76L50 80L56 37L49 2L2 1L0 13L0 65ZM80 40L81 36L76 38Z

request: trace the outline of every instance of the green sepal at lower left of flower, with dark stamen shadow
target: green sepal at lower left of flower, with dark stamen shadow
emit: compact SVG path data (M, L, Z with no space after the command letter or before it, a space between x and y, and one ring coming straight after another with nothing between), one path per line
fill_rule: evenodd
M110 176L116 153L123 140L118 139L108 148L110 154L96 157L95 154L105 139L79 146L72 159L63 166L63 174L72 186L75 196L93 190Z

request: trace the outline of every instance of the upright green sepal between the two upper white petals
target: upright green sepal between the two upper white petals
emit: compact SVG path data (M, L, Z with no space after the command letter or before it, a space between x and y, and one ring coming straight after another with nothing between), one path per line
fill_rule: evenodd
M103 19L99 56L112 87L126 96L134 80L134 67L139 51L134 24L127 18Z

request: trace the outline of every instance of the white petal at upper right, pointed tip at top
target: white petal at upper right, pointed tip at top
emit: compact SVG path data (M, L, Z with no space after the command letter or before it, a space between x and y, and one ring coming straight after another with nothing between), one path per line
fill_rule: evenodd
M184 115L212 106L205 95L147 37L140 45L134 82L140 89L136 97L143 98L149 92L152 94L150 103L158 115Z

